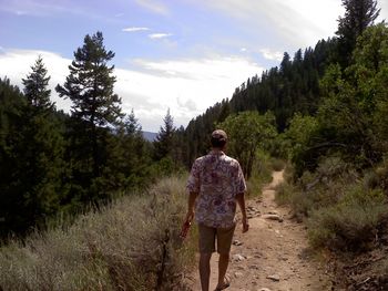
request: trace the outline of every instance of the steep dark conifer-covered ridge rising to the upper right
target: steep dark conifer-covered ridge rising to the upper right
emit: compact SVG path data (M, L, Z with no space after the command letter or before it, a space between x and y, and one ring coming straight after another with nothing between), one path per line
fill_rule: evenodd
M329 74L328 69L330 71L333 65L338 65L340 72L347 74L347 69L356 62L354 49L357 38L374 24L379 14L376 1L343 1L343 6L346 13L338 20L336 35L318 41L314 48L297 50L293 58L285 52L279 66L264 71L261 76L248 77L235 89L231 100L216 103L191 121L185 131L187 165L195 156L206 152L206 136L215 124L231 114L244 111L264 114L270 111L280 133L289 127L296 113L316 116L328 95L321 84Z

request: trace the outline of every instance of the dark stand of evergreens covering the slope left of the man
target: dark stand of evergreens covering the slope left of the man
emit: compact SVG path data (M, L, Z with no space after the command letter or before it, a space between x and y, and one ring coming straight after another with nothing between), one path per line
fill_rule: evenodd
M84 38L55 89L72 102L70 114L51 102L41 56L22 91L0 79L0 239L76 217L180 168L169 156L170 113L154 142L143 138L133 111L122 113L113 58L101 32Z

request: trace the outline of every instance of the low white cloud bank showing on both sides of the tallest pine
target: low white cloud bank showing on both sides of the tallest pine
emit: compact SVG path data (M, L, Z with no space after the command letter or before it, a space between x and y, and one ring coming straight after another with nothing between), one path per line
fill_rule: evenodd
M54 86L63 84L71 60L43 51L6 50L0 53L0 76L13 84L31 71L41 54L49 75L53 101L58 108L69 111L70 101L57 96ZM115 69L115 92L122 97L123 111L133 108L144 131L157 132L167 108L176 126L187 123L207 107L231 97L234 89L263 67L248 59L213 55L206 59L149 61L136 60L135 69Z

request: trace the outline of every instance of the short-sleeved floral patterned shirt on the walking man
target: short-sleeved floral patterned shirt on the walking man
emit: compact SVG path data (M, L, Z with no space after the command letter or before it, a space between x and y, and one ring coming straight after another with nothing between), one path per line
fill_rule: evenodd
M228 228L235 224L236 195L245 193L246 185L238 162L223 152L212 150L194 162L187 190L198 194L197 224Z

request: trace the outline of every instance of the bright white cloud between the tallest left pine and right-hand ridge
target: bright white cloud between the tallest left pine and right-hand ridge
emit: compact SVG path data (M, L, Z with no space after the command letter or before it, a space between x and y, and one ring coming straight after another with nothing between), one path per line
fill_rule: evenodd
M136 114L140 112L143 116L137 117L143 128L153 131L157 127L151 122L160 125L169 107L175 124L186 126L207 107L231 97L247 76L263 71L247 59L217 55L200 60L136 60L135 64L137 71L116 70L116 90L129 101L134 98L126 110L133 107ZM135 104L137 100L142 101Z

